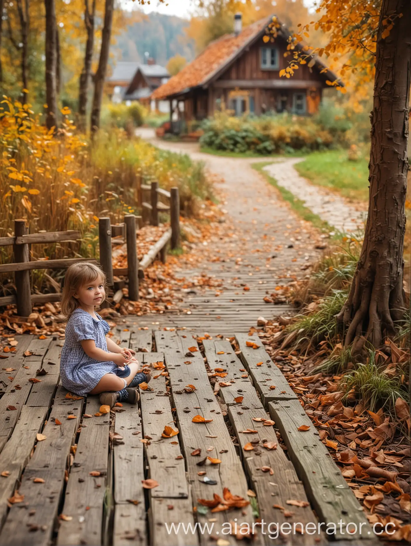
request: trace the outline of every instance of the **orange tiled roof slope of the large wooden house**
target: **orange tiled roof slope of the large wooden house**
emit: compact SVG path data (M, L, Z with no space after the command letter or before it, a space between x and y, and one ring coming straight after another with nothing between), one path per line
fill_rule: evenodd
M246 27L237 36L226 34L213 41L194 61L172 76L166 84L153 91L152 98L162 99L190 87L204 85L210 76L230 60L231 56L259 34L270 20L271 17L265 17Z

